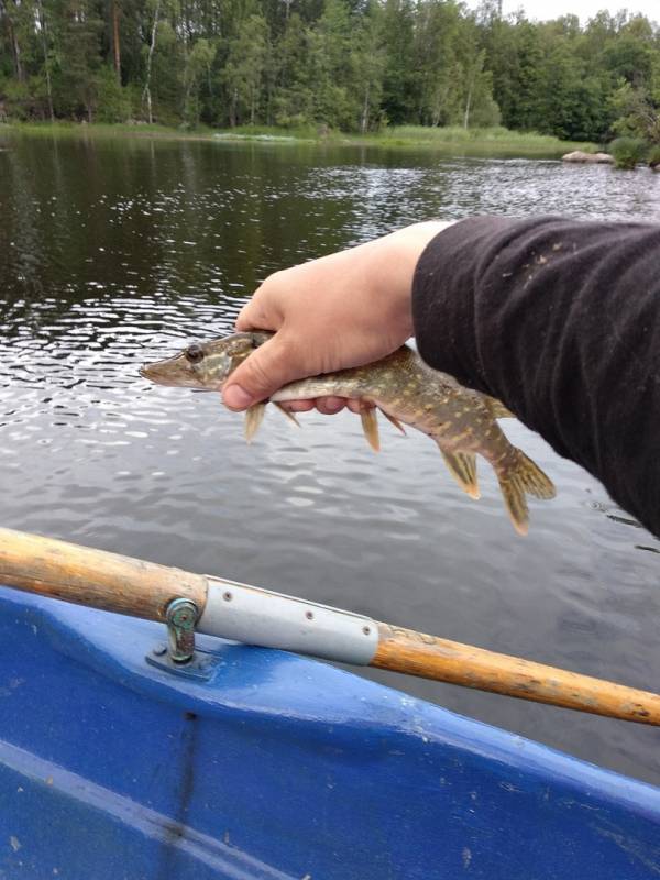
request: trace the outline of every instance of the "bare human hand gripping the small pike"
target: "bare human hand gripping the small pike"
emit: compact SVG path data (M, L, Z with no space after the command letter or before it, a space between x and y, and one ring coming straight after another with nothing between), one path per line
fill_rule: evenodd
M385 358L413 336L411 288L427 243L449 222L406 227L348 251L276 272L258 287L237 330L273 330L229 377L222 396L246 409L283 385ZM288 408L338 413L340 397L294 402ZM350 402L351 408L360 402Z

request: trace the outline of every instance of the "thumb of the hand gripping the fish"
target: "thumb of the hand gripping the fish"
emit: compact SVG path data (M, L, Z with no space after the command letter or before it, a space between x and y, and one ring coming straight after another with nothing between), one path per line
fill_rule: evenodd
M234 370L222 388L222 399L230 409L246 409L306 375L296 349L276 333Z

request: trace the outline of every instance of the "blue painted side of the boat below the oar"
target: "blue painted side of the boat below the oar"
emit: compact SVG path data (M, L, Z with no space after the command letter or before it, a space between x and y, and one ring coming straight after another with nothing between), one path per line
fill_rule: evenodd
M660 790L332 667L0 590L0 878L660 876Z

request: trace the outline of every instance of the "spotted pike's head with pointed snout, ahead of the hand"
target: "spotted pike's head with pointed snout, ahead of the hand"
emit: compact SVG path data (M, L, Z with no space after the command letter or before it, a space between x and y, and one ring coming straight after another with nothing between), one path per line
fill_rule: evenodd
M220 391L237 366L272 336L233 333L208 342L194 342L174 358L143 364L140 375L156 385Z

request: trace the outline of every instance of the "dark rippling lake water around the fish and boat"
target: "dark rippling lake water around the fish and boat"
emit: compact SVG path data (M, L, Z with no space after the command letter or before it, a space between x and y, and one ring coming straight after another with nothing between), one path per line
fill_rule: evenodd
M475 212L660 219L660 175L430 152L0 134L0 524L307 596L658 690L659 542L518 422L558 487L515 535L481 469L356 417L268 414L139 365L229 331L277 268ZM660 783L660 730L388 673L395 688Z

